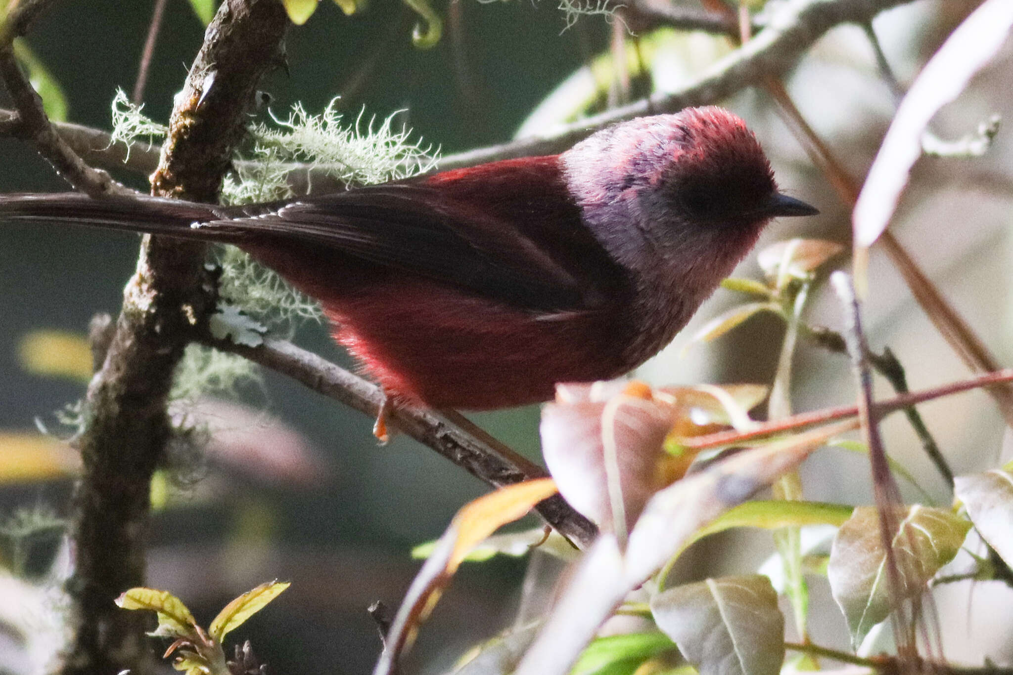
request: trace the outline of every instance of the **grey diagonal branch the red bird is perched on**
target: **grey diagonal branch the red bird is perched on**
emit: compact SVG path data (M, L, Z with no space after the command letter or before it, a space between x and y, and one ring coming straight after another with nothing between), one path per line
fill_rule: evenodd
M371 418L377 416L383 404L383 393L377 386L290 342L265 340L258 347L246 347L208 336L202 337L202 342L286 374ZM459 413L441 416L445 419L425 410L395 408L390 422L492 487L546 476L541 467L491 438ZM597 534L595 525L561 497L550 498L537 509L546 522L581 546L590 544Z

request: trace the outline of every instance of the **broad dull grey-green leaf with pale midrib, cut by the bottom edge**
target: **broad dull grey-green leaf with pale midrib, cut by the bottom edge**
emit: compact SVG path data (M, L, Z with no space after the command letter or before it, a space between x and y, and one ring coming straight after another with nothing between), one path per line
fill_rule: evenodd
M700 675L777 675L784 615L762 575L676 586L650 600L657 626Z

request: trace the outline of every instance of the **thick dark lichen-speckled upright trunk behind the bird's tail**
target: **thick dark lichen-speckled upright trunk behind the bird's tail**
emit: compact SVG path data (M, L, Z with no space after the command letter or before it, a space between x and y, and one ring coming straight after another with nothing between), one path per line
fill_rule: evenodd
M217 198L243 133L246 103L287 26L276 0L222 3L176 99L156 193ZM101 369L88 388L86 427L75 443L83 469L68 584L74 637L65 675L150 670L144 617L121 611L112 600L144 583L150 479L171 436L172 372L192 324L213 307L204 254L203 245L145 237Z

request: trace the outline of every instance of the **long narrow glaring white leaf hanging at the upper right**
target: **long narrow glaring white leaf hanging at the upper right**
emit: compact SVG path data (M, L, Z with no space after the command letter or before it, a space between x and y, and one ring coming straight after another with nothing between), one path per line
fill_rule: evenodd
M1007 41L1011 25L1013 2L982 3L950 33L908 89L852 212L856 249L868 248L886 229L911 167L922 154L921 138L929 120L992 60Z

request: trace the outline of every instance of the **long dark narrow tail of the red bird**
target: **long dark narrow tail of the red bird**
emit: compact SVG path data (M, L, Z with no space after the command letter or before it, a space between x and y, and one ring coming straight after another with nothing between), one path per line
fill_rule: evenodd
M197 227L227 220L227 207L147 195L92 198L80 192L0 194L0 222L48 221L232 243L240 229Z

